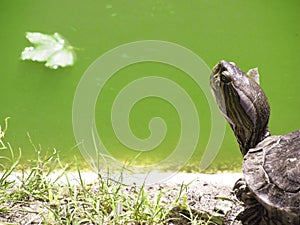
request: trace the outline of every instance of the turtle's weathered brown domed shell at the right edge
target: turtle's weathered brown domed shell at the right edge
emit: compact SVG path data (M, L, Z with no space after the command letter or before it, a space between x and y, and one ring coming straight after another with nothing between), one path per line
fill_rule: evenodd
M243 173L272 224L300 224L300 130L267 137L250 149Z

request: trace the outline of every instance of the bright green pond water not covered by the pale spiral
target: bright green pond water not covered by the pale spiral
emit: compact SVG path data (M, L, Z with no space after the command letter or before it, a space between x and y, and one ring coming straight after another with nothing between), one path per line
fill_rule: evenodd
M234 61L245 71L258 67L261 85L271 104L271 132L282 134L299 129L299 10L300 3L296 0L2 0L2 127L4 118L11 117L4 142L10 142L14 149L22 149L23 162L34 155L27 132L44 152L55 148L65 162L74 160L74 156L83 160L72 126L77 85L99 56L122 44L141 40L176 43L201 57L209 68L220 59ZM28 31L64 35L79 48L76 64L51 70L43 63L21 61L22 50L30 46L25 38ZM121 144L116 137L111 125L111 107L127 84L154 75L176 82L194 102L200 124L199 141L186 170L197 171L210 136L211 112L203 90L185 72L172 65L158 62L132 64L117 71L105 83L95 107L95 123L101 140L109 154L119 161L138 153ZM132 132L142 139L149 137L148 124L153 117L165 120L167 133L159 146L142 154L139 164L155 164L166 158L181 135L176 108L155 96L139 101L132 108L129 117ZM192 136L194 131L190 132ZM221 137L215 138L218 142ZM0 153L6 154L5 150ZM241 161L236 140L226 125L221 148L209 168L237 169Z

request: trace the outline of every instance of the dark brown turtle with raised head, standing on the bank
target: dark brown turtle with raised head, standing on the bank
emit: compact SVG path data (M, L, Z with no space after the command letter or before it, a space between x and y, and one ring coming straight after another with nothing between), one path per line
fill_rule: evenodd
M300 130L271 135L270 105L258 69L243 72L221 60L210 75L212 94L243 155L243 178L234 185L244 209L236 220L251 225L300 225Z

